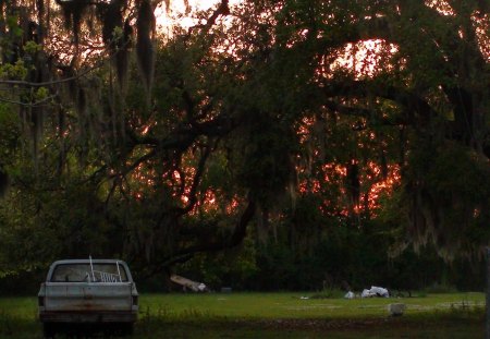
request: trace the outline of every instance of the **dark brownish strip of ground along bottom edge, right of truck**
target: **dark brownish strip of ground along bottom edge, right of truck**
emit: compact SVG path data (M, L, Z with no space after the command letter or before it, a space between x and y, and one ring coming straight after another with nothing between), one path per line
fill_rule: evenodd
M162 326L163 325L163 326ZM482 338L482 318L467 316L373 317L356 319L213 319L152 323L137 328L136 338Z

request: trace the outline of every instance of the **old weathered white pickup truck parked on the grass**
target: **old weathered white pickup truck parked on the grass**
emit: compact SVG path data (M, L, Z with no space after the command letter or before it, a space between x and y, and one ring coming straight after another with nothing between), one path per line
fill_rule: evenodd
M38 293L45 338L74 328L99 328L131 335L138 292L126 263L68 259L51 264Z

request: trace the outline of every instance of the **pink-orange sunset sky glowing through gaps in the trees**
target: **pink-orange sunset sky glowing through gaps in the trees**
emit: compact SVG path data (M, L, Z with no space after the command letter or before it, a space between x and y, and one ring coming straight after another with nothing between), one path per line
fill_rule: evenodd
M238 3L238 1L231 1L230 5ZM162 2L156 10L155 14L157 17L158 29L161 33L171 35L172 25L177 22L184 28L192 27L199 22L196 19L195 13L198 11L206 11L209 9L215 9L219 4L219 1L197 1L197 0L180 0ZM453 10L446 1L443 0L432 0L426 1L428 7L434 8L442 15L453 15ZM488 17L486 19L475 19L475 23L478 26L477 33L482 41L480 45L482 50L488 49L486 39L488 35L485 34L488 28ZM488 31L488 29L487 29ZM224 50L221 52L225 52ZM344 46L339 57L333 61L333 63L328 65L328 70L323 70L322 76L330 76L331 72L338 70L347 70L355 77L375 77L379 75L380 72L390 71L394 65L391 65L389 60L395 53L399 52L399 47L395 44L388 43L382 39L367 39L362 40L356 44L347 44ZM488 56L488 52L487 52ZM315 129L316 122L313 119L305 118L303 124L297 129L297 134L299 135L299 141L302 144L306 144L311 135L311 130ZM149 128L145 130L145 133ZM372 133L371 133L372 134ZM371 142L376 141L376 135L370 136ZM359 144L359 148L364 146ZM318 157L319 152L314 150L313 157ZM360 164L362 170L359 173L359 184L360 194L359 201L353 210L355 213L362 213L367 209L369 213L376 213L376 209L380 207L379 199L382 195L391 194L394 186L401 182L401 173L399 165L384 165L385 168L376 161L367 160ZM306 174L308 171L306 168L298 166L296 168L299 175ZM166 180L169 186L174 187L173 196L181 201L183 205L187 204L189 201L192 178L195 174L195 169L191 166L183 166L180 171L175 170L172 173L167 173ZM340 189L340 196L338 201L324 202L324 206L343 206L342 215L346 216L352 210L350 210L347 190L344 186L344 182L347 177L347 167L342 164L326 162L321 166L321 172L323 173L320 178L315 180L309 180L307 175L299 180L298 192L301 194L317 194L322 190L328 190L330 185L338 185ZM150 179L155 173L144 174L143 167L138 168L135 173L135 179L142 184L152 185L154 180ZM149 175L149 177L148 177ZM148 178L147 178L148 177ZM215 187L206 187L204 192L199 192L200 199L196 204L196 208L201 208L206 211L212 211L218 209L218 204L220 201L220 192ZM137 193L137 197L142 198L143 193ZM233 209L237 203L233 202L229 204L225 208L226 213ZM319 207L322 208L322 207Z

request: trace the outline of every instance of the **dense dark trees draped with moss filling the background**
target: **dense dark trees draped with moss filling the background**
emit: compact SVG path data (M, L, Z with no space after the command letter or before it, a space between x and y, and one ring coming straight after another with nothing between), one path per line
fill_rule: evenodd
M485 1L223 0L168 35L160 2L0 1L0 277L91 254L413 288L481 261Z

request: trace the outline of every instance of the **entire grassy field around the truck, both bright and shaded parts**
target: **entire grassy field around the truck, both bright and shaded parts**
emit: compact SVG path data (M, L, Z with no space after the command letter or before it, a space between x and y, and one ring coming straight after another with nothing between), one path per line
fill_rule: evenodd
M145 294L134 338L482 338L485 294ZM405 303L402 317L388 304ZM0 338L41 338L35 298L0 299Z

